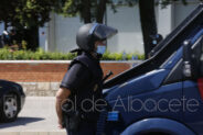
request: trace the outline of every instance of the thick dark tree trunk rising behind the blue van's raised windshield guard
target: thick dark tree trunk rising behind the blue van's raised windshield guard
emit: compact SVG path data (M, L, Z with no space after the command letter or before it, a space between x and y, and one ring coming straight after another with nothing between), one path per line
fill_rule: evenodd
M145 57L152 49L152 35L157 34L154 0L139 0L140 22L143 36Z

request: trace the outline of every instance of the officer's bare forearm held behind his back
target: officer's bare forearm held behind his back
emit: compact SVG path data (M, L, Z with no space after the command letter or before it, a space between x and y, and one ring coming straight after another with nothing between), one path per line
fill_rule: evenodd
M67 88L60 88L57 93L56 93L56 102L55 102L55 109L56 109L56 113L57 113L57 117L58 117L58 127L62 128L62 120L63 120L63 115L62 115L62 102L68 98L68 95L71 94L71 91Z

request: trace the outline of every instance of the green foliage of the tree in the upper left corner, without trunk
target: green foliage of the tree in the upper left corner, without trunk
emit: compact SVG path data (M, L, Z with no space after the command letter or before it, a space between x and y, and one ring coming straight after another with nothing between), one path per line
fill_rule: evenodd
M1 0L0 21L26 27L43 26L57 0Z

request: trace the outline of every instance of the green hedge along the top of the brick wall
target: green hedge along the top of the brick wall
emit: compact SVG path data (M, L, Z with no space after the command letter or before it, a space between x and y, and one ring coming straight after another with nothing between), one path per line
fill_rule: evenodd
M76 54L67 53L47 53L42 49L36 52L31 50L14 50L8 48L0 49L1 60L71 60L76 56ZM103 60L129 60L129 59L143 59L145 56L138 53L125 54L125 53L105 53Z

